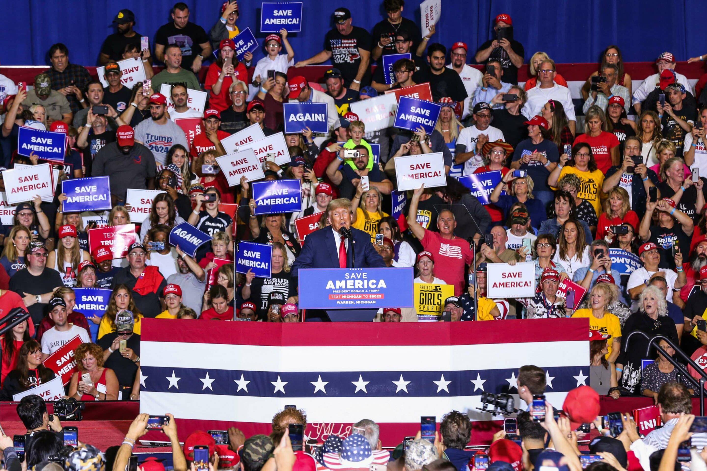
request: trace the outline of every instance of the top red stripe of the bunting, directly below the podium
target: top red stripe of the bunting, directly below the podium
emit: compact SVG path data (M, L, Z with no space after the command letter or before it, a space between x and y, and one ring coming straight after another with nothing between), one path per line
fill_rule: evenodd
M502 328L498 328L502 322ZM505 321L267 323L142 320L141 340L275 347L361 345L487 345L589 340L587 318Z

